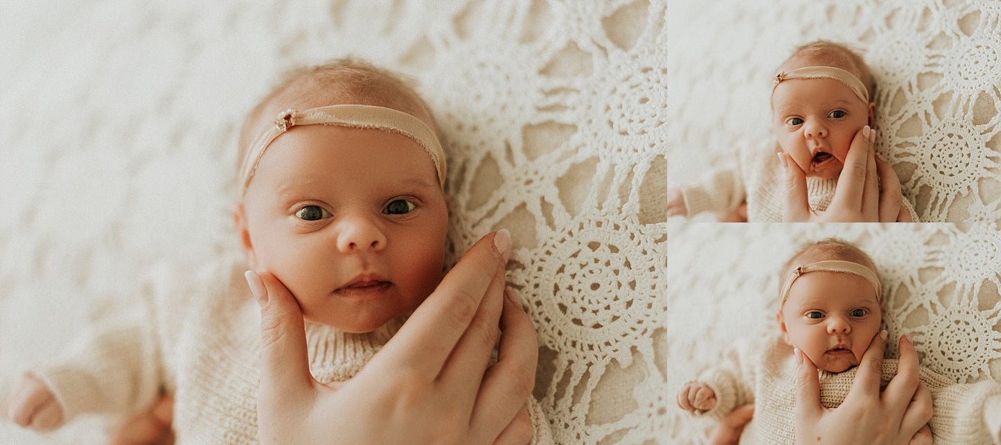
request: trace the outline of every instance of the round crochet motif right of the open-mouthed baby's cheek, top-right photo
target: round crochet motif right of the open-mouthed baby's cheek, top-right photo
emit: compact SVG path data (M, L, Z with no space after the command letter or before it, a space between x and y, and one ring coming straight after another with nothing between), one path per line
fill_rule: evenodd
M984 142L980 133L966 124L943 122L921 137L920 150L928 157L918 168L935 182L936 189L963 192L987 175L982 167Z

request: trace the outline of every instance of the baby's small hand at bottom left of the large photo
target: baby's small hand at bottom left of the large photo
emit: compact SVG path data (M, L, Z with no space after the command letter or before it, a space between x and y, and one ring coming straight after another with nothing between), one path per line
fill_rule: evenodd
M35 430L50 430L63 423L63 410L55 395L31 374L11 387L0 408L4 417Z

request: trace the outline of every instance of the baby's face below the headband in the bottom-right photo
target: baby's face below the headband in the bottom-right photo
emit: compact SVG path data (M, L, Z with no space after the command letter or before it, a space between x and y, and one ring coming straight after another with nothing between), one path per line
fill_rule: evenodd
M880 332L881 306L862 277L811 272L793 283L779 324L786 342L817 369L840 373L862 361Z

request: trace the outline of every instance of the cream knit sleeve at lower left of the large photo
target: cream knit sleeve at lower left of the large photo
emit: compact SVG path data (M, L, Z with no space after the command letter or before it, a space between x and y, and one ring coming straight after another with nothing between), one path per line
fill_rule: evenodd
M152 327L143 316L109 322L76 343L65 360L29 371L55 395L66 421L81 413L137 412L159 396Z

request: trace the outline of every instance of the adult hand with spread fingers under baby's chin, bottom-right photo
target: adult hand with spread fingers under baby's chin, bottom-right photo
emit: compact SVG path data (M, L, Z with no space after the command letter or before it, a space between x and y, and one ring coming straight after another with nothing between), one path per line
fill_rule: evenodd
M862 357L855 382L841 406L820 404L817 368L801 351L796 394L798 444L906 444L932 417L931 392L918 379L918 353L910 338L900 339L897 375L880 392L886 331Z

